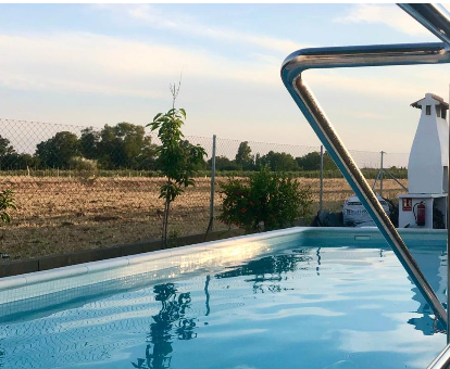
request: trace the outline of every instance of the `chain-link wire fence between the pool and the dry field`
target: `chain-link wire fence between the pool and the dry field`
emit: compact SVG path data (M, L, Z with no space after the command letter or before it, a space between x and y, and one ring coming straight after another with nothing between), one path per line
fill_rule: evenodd
M205 232L210 220L213 138L185 139L200 144L208 157L197 168L196 187L173 203L171 238ZM149 129L127 123L92 128L0 118L0 190L13 188L17 204L13 221L1 226L0 253L26 258L159 238L164 208L159 199L164 178L155 154L160 143ZM221 211L220 184L228 176L247 177L261 165L310 186L317 211L320 151L217 138L215 214ZM373 181L380 153L350 153ZM384 167L404 186L408 158L404 153L384 154ZM326 154L323 175L323 208L339 211L352 191ZM392 179L384 180L384 196L396 199L402 192ZM213 229L225 228L214 220Z

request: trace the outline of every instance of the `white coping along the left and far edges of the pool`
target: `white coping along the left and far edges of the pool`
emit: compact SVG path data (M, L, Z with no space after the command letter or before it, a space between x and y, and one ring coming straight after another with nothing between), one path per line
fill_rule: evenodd
M308 231L308 232L307 232ZM422 230L422 229L400 229L401 234L422 234L427 238L439 238L447 236L447 230ZM122 278L129 276L132 272L148 272L155 271L158 268L164 269L170 266L180 265L183 259L190 265L199 264L202 255L208 256L208 260L214 260L220 263L221 257L224 259L223 253L218 251L228 250L227 247L235 247L248 245L250 243L257 243L258 241L267 241L274 238L283 238L286 236L301 234L301 233L317 232L325 237L336 237L336 234L371 234L372 240L384 240L382 233L376 227L364 227L364 228L342 228L342 227L293 227L283 230L268 231L258 234L239 236L230 239L203 242L193 245L180 246L176 249L167 249L161 251L147 252L137 255L122 256L117 258L111 258L105 260L90 262L85 264L77 264L50 270L35 271L20 276L0 278L0 305L3 303L10 303L17 300L36 297L46 293L59 292L62 290L70 289L72 285L70 282L64 280L73 280L74 277L80 277L84 281L79 285L86 285L93 283L92 279L89 279L89 275L97 273L102 275L102 281L112 278ZM373 238L375 237L375 238ZM254 247L254 253L249 255L242 255L240 260L246 258L254 257L258 253L265 251L264 246L266 243L261 243L258 247ZM197 258L192 258L199 254ZM208 254L208 255L207 255ZM233 259L233 255L227 254L226 259ZM189 258L189 256L192 256ZM161 260L160 264L155 262ZM187 262L186 262L187 260ZM167 264L168 263L168 264ZM149 266L153 264L152 266ZM117 272L113 275L111 271L115 269L124 268L130 269L127 275ZM54 282L54 283L51 283ZM39 287L37 287L39 285ZM48 289L48 292L47 292Z

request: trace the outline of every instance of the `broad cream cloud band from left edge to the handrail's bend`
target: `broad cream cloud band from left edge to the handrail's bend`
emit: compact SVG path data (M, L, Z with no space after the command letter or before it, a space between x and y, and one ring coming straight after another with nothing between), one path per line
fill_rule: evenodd
M279 85L279 65L229 60L182 49L86 33L0 35L0 84L15 89L158 98L159 82L200 80Z

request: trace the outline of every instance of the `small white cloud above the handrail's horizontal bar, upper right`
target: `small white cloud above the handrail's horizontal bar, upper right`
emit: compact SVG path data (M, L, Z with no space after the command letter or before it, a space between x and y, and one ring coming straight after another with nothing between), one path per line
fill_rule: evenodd
M408 35L429 35L424 26L413 20L404 11L395 9L393 5L380 4L354 4L345 16L334 20L337 23L366 23L384 24Z

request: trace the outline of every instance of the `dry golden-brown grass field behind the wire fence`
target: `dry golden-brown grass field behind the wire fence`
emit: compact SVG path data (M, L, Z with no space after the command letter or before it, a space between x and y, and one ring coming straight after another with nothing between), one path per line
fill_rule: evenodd
M218 178L217 182L225 181ZM1 188L13 187L18 206L13 221L0 228L0 252L11 259L60 254L155 239L161 233L163 201L158 199L163 178L2 178ZM318 202L318 179L300 178ZM402 181L407 184L405 180ZM218 186L217 186L218 188ZM392 180L385 180L384 195L395 199L403 192ZM343 179L324 180L324 209L339 211L352 194ZM215 194L216 212L221 204ZM204 232L209 221L210 179L198 178L197 186L173 203L170 216L172 237ZM214 229L224 229L214 222Z

